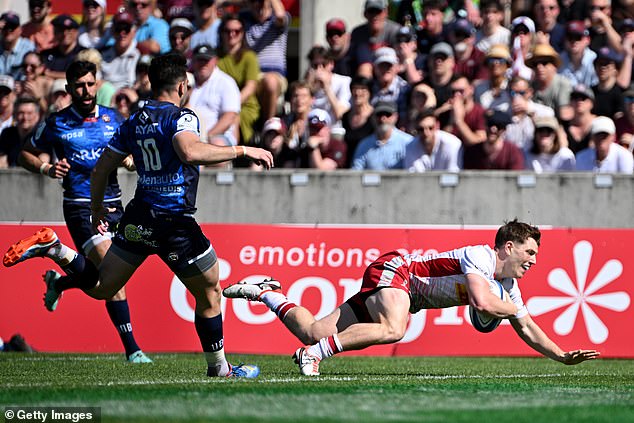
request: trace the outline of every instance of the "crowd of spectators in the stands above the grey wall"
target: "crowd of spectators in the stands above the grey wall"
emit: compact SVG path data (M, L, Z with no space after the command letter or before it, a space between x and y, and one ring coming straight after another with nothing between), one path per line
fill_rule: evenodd
M201 139L278 168L634 173L634 2L356 1L364 22L333 16L289 81L281 0L124 0L111 18L83 0L79 22L29 0L27 22L0 16L0 167L70 104L73 60L129 116L152 57L177 52Z

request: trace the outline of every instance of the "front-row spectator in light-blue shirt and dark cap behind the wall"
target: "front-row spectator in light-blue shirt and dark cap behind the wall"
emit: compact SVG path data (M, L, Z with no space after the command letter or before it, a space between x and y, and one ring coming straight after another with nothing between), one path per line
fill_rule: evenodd
M374 106L375 131L361 140L352 158L354 170L403 169L405 149L414 139L397 129L397 107L381 101Z

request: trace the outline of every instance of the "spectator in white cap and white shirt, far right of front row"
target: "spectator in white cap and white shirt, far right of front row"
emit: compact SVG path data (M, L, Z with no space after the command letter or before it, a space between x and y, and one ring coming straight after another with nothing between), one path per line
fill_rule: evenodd
M607 116L592 121L592 146L577 153L577 170L595 173L634 173L634 156L617 144L614 122Z

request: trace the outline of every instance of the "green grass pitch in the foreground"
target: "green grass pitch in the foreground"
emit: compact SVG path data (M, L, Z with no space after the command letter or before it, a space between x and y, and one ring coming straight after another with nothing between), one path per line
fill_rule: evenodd
M207 378L201 354L0 354L0 407L96 406L104 422L634 422L634 360L350 357L299 375L287 356L230 355L255 380Z

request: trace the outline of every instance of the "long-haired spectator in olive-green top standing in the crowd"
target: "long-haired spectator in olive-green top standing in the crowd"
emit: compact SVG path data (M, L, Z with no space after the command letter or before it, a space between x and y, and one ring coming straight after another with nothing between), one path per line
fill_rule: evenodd
M219 27L218 68L232 77L240 89L240 139L252 144L253 126L260 117L255 95L260 75L258 58L244 39L244 23L238 15L224 15Z

